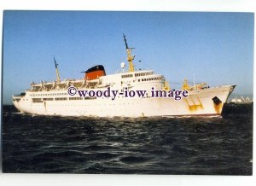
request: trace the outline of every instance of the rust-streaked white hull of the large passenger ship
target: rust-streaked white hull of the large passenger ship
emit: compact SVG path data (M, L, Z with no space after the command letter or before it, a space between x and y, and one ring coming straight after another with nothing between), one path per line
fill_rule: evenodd
M225 85L202 90L192 90L187 98L176 101L168 97L129 98L118 96L116 99L97 97L90 100L67 100L32 102L29 92L15 108L23 113L62 116L98 116L98 117L152 117L179 115L220 115L234 85ZM63 91L62 91L63 92ZM66 91L67 92L67 91ZM212 98L217 96L220 103ZM54 97L54 96L53 96Z

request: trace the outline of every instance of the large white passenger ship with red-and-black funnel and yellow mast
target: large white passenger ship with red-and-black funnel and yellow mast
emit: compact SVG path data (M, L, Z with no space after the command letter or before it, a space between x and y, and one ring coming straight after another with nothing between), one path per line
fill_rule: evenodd
M83 78L61 80L54 58L56 80L32 82L29 90L13 95L15 108L21 113L86 117L221 115L236 85L191 85L185 79L180 90L172 90L164 75L135 68L134 48L128 46L125 34L123 37L128 69L122 62L119 73L106 74L102 65L96 65L82 72ZM111 91L116 94L109 96ZM178 97L182 92L185 94Z

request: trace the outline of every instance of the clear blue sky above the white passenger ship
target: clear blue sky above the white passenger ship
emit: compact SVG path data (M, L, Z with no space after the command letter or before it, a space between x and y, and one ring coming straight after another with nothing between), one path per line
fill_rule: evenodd
M32 80L54 80L54 56L61 79L82 78L97 64L108 74L119 71L123 33L136 48L137 69L164 74L172 88L195 73L196 82L237 84L235 93L253 94L253 19L251 13L5 11L3 104Z

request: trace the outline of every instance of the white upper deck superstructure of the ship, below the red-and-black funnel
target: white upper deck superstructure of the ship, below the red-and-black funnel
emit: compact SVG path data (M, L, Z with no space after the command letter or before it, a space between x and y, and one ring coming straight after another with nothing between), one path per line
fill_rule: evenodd
M165 78L163 75L154 74L154 71L152 70L143 70L127 73L115 73L101 76L93 80L65 79L60 82L42 81L40 84L32 83L32 88L29 91L67 90L70 86L74 86L77 89L100 89L108 86L119 88L130 86L131 84L140 84L140 87L142 87L150 82L154 84L164 84Z

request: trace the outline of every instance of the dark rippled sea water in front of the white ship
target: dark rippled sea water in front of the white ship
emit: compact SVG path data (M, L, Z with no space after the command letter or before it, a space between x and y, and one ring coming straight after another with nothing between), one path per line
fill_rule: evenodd
M253 174L252 104L218 118L2 114L3 172Z

